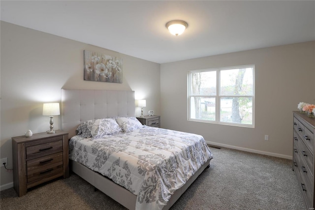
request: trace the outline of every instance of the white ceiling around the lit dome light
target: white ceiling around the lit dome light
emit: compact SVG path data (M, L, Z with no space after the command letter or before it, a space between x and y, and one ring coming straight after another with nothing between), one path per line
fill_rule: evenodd
M315 1L0 1L1 20L159 64L315 40ZM165 24L184 20L183 35Z

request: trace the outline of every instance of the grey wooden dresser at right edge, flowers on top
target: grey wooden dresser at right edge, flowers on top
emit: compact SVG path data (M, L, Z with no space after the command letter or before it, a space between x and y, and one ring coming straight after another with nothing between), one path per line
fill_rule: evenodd
M293 112L293 170L303 194L307 210L315 207L315 118Z

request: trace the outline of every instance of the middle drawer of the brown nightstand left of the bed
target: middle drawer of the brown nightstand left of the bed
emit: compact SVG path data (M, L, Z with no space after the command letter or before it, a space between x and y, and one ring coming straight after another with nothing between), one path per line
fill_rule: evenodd
M63 152L28 160L27 172L29 173L33 170L37 170L38 168L43 168L59 162L63 162Z

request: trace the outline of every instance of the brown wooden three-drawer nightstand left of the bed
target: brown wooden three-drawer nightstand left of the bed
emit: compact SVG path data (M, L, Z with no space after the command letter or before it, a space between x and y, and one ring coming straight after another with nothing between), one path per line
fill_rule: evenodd
M12 137L13 185L19 197L43 182L69 177L68 133Z

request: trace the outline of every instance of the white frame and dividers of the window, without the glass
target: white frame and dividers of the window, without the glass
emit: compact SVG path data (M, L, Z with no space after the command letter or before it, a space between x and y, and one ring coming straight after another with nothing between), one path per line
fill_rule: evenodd
M220 94L220 71L221 70L232 70L232 69L246 69L252 68L252 77L253 77L253 87L252 87L252 95L239 95L237 97L251 97L252 98L252 124L242 124L242 123L231 123L231 122L221 122L220 120L220 107L221 107L221 98L223 97L236 97L236 95L221 95ZM190 94L190 84L191 78L190 75L193 72L203 72L203 71L216 71L216 95L191 95ZM204 120L204 119L194 119L190 118L190 99L191 97L213 97L216 98L216 119L215 120ZM239 126L239 127L248 127L254 128L255 126L255 65L245 65L245 66L235 66L235 67L224 67L224 68L216 68L216 69L206 69L206 70L190 70L187 75L187 120L195 121L195 122L204 122L204 123L214 123L221 125L231 125L231 126Z

